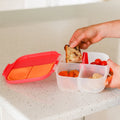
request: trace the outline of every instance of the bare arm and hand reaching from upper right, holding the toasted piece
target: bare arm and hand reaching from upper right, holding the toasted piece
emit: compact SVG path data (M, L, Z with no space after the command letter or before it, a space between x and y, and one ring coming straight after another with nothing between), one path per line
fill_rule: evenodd
M81 49L87 49L91 44L99 42L103 38L120 37L120 20L109 21L77 29L70 39L70 46L79 45Z

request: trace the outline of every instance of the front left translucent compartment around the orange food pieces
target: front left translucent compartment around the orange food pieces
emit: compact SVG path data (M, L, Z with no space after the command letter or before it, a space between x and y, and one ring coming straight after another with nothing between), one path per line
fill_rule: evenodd
M59 72L61 71L70 71L70 70L78 70L80 71L79 63L59 63L56 70L56 78L58 87L61 90L73 91L77 90L77 77L66 77L60 76Z

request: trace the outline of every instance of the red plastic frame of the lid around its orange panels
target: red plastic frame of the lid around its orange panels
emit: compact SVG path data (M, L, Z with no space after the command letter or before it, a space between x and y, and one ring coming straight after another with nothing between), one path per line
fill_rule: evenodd
M53 68L59 62L58 61L59 56L60 56L60 54L57 53L56 51L42 52L42 53L36 53L36 54L22 56L22 57L18 58L14 63L8 64L6 66L6 68L3 71L3 76L5 77L5 79L8 83L12 83L12 84L43 80L43 79L47 78L48 76L50 76L54 72ZM54 65L51 68L51 71L42 77L22 79L22 80L8 80L7 79L9 73L14 68L22 68L22 67L43 65L43 64L49 64L49 63L54 63Z

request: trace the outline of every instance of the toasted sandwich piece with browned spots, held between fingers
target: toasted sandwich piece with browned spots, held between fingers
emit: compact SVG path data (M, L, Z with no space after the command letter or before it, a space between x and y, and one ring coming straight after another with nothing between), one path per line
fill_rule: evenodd
M79 46L71 48L69 45L65 45L64 49L66 52L66 63L82 62L82 55Z

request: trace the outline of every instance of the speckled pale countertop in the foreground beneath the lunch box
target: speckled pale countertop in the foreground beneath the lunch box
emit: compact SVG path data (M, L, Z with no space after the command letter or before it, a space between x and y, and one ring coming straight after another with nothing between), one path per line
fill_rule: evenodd
M0 105L17 120L74 120L118 104L118 89L99 94L62 92L54 73L42 81L17 85L0 78Z

